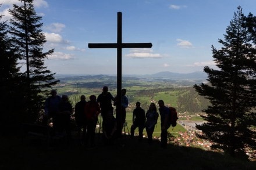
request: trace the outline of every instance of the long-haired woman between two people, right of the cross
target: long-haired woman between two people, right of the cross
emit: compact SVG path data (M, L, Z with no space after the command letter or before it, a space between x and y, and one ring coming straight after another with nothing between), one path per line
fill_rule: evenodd
M157 124L158 117L159 114L157 112L157 107L155 106L155 103L151 103L146 113L146 131L149 144L152 143L152 135L155 130L155 124Z

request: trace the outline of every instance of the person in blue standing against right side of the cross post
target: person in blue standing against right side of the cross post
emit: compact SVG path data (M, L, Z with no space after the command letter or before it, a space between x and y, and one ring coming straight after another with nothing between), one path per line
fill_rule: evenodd
M126 97L126 89L122 89L120 113L118 110L116 110L116 121L118 123L117 128L116 128L116 133L117 133L118 138L122 138L122 129L123 129L123 125L125 124L125 120L126 120L126 108L128 107L128 104L129 104L129 101L128 101L128 98Z

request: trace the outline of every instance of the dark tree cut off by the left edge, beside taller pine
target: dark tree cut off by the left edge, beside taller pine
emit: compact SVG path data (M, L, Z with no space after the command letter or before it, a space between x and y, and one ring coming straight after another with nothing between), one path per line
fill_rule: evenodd
M2 16L0 16L0 20ZM13 39L8 37L9 26L7 21L0 22L0 99L1 114L0 124L2 126L13 125L13 115L17 113L13 105L18 99L19 90L16 82L19 81L19 67L17 67L17 48L13 46ZM17 103L19 104L19 103ZM1 128L2 129L2 128ZM6 129L6 128L5 128ZM9 128L8 128L9 129Z

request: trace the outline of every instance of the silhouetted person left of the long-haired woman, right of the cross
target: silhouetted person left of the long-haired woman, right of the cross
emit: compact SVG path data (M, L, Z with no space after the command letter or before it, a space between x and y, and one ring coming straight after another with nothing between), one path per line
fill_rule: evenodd
M145 110L140 107L140 102L136 103L136 108L133 110L133 124L131 125L131 138L134 137L134 131L138 127L138 139L143 139L143 129L145 128Z

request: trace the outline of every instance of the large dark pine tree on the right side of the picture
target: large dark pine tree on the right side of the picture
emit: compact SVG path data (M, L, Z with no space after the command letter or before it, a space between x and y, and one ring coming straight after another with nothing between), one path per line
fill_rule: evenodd
M207 115L202 117L207 123L196 126L203 132L198 136L214 142L212 148L233 156L246 156L246 148L256 147L256 53L246 23L239 6L226 28L225 40L218 41L222 48L212 46L219 69L205 66L208 83L194 85L198 94L211 102L203 110Z

